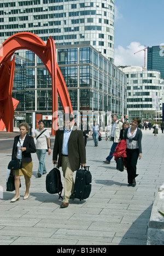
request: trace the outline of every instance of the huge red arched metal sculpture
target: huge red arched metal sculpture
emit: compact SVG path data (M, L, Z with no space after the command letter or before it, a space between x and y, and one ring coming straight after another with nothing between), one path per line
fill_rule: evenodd
M5 125L8 132L13 131L14 110L19 103L12 98L14 79L14 59L16 50L33 51L42 60L52 80L52 135L57 130L57 92L63 110L72 113L72 104L67 86L56 62L55 43L49 37L45 44L42 39L30 32L20 32L9 37L0 47L0 130Z

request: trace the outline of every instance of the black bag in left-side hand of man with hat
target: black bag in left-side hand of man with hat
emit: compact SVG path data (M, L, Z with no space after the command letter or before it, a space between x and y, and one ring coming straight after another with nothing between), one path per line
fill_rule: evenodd
M54 166L54 168L47 174L46 176L46 191L49 194L57 194L59 195L58 199L60 199L63 185L61 182L61 174L60 170Z

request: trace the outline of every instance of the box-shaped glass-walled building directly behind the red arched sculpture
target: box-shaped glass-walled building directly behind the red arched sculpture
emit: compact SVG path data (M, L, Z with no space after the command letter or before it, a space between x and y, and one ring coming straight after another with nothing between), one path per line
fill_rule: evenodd
M126 115L127 77L118 67L91 45L56 46L56 56L73 112L81 115L90 112L97 123L103 115L106 124L112 114L122 115L124 111ZM33 112L52 115L51 77L31 51L26 51L25 60L16 58L13 97L20 101L15 111L15 126L19 120L31 123ZM59 98L58 110L63 110Z

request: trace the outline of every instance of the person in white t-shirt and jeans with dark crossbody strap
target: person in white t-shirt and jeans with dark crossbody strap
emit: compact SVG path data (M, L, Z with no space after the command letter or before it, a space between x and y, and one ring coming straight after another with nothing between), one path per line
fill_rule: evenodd
M46 166L45 166L45 154L48 150L48 154L51 154L50 148L50 133L48 130L44 129L45 121L39 120L38 122L39 128L34 130L33 138L36 138L36 148L37 148L37 157L39 160L39 167L38 167L38 177L42 177L43 174L46 173Z

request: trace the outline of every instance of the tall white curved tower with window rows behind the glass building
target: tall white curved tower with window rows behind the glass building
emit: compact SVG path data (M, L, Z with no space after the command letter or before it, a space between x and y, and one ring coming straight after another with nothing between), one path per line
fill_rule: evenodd
M1 0L0 43L32 32L56 45L88 43L114 63L115 0Z

